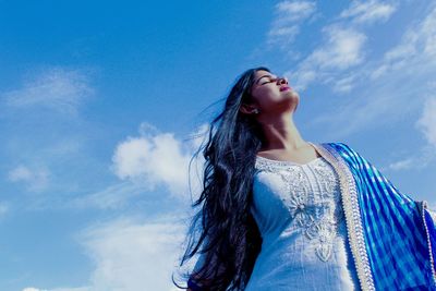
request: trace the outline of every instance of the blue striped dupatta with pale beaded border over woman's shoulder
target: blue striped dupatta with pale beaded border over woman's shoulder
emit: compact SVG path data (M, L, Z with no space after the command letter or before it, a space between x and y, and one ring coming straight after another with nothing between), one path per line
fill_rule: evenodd
M436 290L436 214L343 143L312 144L340 178L362 290ZM436 193L435 193L436 194Z

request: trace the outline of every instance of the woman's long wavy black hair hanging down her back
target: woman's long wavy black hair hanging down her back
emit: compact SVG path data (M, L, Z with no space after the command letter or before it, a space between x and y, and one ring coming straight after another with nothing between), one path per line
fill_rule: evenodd
M207 143L194 154L202 150L205 158L202 193L192 204L202 207L190 225L190 243L180 266L199 252L201 267L184 274L184 280L197 282L203 290L244 290L261 251L262 237L250 205L255 157L265 137L254 116L239 110L243 102L254 101L250 89L259 70L270 72L258 66L237 78L223 110L210 123ZM194 247L196 231L201 234Z

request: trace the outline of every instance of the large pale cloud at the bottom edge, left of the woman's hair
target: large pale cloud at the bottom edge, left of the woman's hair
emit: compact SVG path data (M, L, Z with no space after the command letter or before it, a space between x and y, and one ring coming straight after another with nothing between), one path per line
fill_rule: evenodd
M92 290L171 290L185 225L180 218L138 222L122 218L94 226L80 238L96 269Z

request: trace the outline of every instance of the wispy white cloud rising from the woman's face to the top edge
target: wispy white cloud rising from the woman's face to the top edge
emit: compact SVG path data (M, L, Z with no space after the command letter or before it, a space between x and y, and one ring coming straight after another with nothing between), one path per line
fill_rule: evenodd
M293 87L298 90L320 82L331 84L335 93L351 92L360 80L353 71L366 62L368 36L364 28L376 22L386 22L396 10L393 3L375 0L352 2L322 28L322 44L284 74L294 81Z

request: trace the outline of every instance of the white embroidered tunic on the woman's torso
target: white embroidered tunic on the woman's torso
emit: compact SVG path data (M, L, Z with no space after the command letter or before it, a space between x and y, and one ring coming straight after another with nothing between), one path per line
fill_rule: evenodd
M245 290L360 290L331 165L257 156L255 167L251 211L263 244Z

